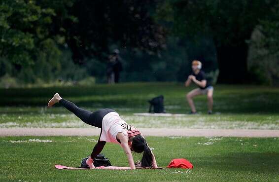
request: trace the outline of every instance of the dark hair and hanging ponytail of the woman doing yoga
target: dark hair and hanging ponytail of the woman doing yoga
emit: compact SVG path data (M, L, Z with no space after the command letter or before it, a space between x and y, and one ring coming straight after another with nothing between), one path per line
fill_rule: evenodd
M141 167L152 167L152 152L149 146L147 146L145 139L141 135L137 135L133 138L132 149L137 153L143 152L142 159L140 162Z

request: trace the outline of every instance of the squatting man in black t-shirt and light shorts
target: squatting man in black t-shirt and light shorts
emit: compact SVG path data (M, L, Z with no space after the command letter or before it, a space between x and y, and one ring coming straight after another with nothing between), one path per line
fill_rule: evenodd
M206 75L202 69L202 63L198 60L194 60L192 62L192 70L193 72L188 76L188 79L185 81L185 86L189 86L191 82L194 82L199 88L196 88L192 91L190 91L187 95L187 101L189 103L189 106L191 108L191 114L195 114L197 112L193 97L197 95L207 95L208 96L208 113L212 113L213 108L213 87L210 86L209 82L206 79Z

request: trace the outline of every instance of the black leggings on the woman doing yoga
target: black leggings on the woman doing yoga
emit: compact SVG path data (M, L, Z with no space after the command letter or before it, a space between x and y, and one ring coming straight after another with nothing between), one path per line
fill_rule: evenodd
M109 113L109 112L115 112L113 109L101 109L97 110L95 112L91 112L89 110L81 109L78 108L75 104L73 104L70 101L67 101L65 99L61 99L59 103L64 106L66 109L70 110L72 113L74 113L77 117L79 117L83 122L86 124L89 124L91 126L95 126L98 128L101 128L101 133L100 137L102 134L102 123L103 123L103 118L104 116ZM101 153L105 146L105 141L100 141L97 142L97 144L94 146L93 151L90 155L90 157L94 160L95 157Z

